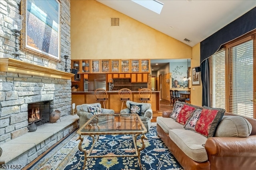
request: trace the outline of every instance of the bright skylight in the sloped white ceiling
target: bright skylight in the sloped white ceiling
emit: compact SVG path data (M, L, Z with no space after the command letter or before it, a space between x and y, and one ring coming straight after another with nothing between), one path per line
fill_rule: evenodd
M131 0L145 8L148 8L149 10L156 12L157 14L160 14L162 11L162 8L164 4L162 2L159 2L157 0Z

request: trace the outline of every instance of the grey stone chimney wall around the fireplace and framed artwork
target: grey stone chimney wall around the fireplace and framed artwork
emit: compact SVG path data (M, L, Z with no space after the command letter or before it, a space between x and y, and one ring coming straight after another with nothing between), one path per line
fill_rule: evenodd
M70 1L60 0L60 2L60 62L20 50L22 61L65 71L64 55L68 55L67 68L68 71L70 70ZM6 15L7 8L21 14L20 3L21 0L0 0L0 58L14 58L12 55L15 46L14 37L8 28L10 18ZM51 101L50 112L58 109L61 111L61 116L69 115L71 80L0 72L0 143L28 132L28 104L41 101Z

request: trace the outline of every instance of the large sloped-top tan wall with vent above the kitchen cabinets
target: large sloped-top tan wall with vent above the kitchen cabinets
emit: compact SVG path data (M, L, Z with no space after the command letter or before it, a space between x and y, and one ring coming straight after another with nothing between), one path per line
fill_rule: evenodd
M192 58L192 47L100 2L70 4L71 59ZM111 27L110 18L120 18L120 26Z

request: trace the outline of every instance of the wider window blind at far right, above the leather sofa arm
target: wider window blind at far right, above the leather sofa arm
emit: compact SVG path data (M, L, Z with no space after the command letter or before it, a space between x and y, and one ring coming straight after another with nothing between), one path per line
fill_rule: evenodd
M253 40L229 48L230 113L253 118Z

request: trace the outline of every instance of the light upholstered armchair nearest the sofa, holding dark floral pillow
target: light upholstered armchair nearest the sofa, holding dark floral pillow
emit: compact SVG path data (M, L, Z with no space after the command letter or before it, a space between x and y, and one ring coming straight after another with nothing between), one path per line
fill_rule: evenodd
M150 127L151 127L151 119L152 119L152 115L153 115L153 111L151 109L151 104L150 103L137 103L137 102L127 101L126 102L126 107L127 108L122 109L120 111L120 113L121 114L128 114L128 113L130 113L130 104L142 105L141 113L140 113L140 119L142 120L142 122L145 125L146 129L149 131Z

